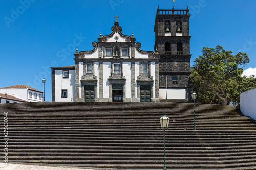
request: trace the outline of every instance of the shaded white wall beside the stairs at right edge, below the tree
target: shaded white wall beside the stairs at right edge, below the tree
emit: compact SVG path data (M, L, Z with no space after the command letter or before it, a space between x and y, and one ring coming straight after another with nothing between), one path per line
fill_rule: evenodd
M240 94L240 110L245 116L256 119L256 88Z

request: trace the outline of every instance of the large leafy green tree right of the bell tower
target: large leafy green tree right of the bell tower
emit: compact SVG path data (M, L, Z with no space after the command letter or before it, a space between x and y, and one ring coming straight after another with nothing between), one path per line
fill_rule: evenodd
M249 62L246 53L232 55L221 46L204 47L191 69L191 86L198 93L199 103L226 105L236 101L241 92L244 66Z

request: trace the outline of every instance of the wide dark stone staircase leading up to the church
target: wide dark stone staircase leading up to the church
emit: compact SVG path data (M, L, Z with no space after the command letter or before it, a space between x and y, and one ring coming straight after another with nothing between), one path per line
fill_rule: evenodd
M8 112L8 161L113 169L256 169L256 123L238 106L33 102ZM2 132L4 123L0 125ZM2 133L3 135L3 133ZM3 137L4 138L4 137ZM4 145L1 142L1 154Z

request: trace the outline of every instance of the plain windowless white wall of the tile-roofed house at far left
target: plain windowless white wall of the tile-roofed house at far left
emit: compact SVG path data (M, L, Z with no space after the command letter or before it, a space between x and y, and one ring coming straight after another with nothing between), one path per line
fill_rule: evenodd
M28 101L28 89L27 88L0 88L0 93L7 93L16 98Z

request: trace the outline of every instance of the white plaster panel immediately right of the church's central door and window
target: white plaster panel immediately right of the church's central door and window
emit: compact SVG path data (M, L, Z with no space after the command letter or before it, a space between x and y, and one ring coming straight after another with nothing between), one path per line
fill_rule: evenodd
M132 98L131 62L123 62L123 76L125 76L125 98Z

